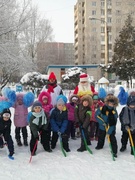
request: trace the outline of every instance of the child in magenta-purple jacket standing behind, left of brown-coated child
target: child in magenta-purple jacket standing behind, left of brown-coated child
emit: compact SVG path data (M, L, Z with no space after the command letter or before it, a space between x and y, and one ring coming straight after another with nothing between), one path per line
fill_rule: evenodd
M71 139L76 140L75 138L75 106L79 103L79 96L72 95L69 99L69 103L66 104L67 111L68 111L68 127L67 127L67 133L68 137Z

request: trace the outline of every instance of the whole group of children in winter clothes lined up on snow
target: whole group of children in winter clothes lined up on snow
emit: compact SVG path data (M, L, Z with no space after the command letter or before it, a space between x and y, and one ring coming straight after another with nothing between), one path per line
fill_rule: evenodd
M81 145L77 149L78 152L86 151L84 136L87 145L91 145L91 141L96 140L95 149L100 150L105 143L105 137L110 137L112 151L114 157L117 157L118 145L116 139L116 124L118 113L116 107L118 98L113 94L106 96L102 102L98 93L84 95L79 98L73 94L67 102L64 95L58 95L56 105L51 104L51 96L49 92L41 92L38 100L34 102L32 94L18 93L13 107L15 139L18 146L28 146L27 125L30 127L31 155L36 154L38 141L40 140L43 148L47 152L52 152L56 148L59 136L61 136L63 148L66 152L70 152L69 138L75 140L76 127L79 127L81 134ZM31 111L28 113L28 108ZM133 143L135 144L135 94L130 93L127 99L127 105L120 112L119 119L122 127L122 147L123 152L129 139L129 130ZM0 147L7 143L9 156L14 154L14 143L11 137L11 112L9 108L4 108L0 117ZM84 136L83 136L83 133ZM21 132L23 143L21 141ZM89 133L90 132L90 133ZM133 150L131 147L131 154Z

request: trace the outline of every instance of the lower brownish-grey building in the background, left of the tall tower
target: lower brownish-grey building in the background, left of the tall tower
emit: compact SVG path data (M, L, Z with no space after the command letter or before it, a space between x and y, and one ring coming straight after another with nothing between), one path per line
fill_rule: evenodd
M39 72L44 72L50 64L73 64L73 43L46 42L37 46L37 66Z

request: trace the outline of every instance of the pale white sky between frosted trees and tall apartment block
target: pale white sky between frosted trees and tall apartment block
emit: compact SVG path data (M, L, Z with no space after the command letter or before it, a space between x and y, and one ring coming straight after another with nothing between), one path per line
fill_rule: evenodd
M51 21L56 42L74 42L74 5L77 0L33 0Z

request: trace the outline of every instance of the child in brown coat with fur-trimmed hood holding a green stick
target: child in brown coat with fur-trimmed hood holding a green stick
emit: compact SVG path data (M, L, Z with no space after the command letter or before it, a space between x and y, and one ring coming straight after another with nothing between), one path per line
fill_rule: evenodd
M84 95L81 98L81 102L79 105L75 108L75 117L76 117L76 123L80 126L80 132L81 132L81 147L77 149L78 152L86 151L86 147L84 144L84 139L82 136L82 129L85 134L85 138L87 140L87 144L91 145L91 142L89 140L88 136L88 127L90 124L90 118L91 118L91 108L92 105L92 97L90 95Z

